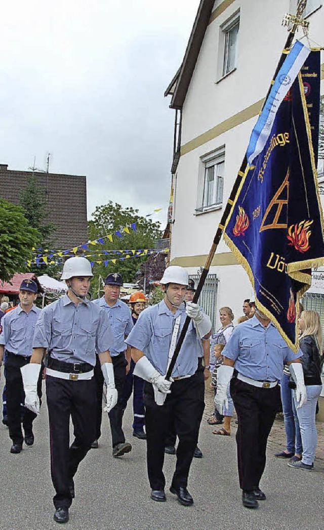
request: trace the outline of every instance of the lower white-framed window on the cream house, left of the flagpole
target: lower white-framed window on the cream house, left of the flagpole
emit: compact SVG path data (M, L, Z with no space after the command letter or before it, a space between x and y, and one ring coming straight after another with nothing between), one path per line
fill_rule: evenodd
M222 147L201 157L201 192L197 213L220 207L223 201L225 151Z

